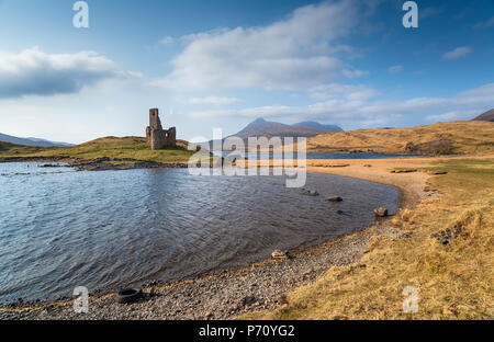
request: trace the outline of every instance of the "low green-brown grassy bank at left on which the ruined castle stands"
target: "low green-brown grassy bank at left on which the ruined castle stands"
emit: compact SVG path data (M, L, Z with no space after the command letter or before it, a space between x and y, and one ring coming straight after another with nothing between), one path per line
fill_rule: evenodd
M0 142L2 157L60 157L94 160L98 158L132 158L164 163L187 162L193 155L187 141L178 140L177 147L151 150L141 137L105 137L71 147L30 147Z

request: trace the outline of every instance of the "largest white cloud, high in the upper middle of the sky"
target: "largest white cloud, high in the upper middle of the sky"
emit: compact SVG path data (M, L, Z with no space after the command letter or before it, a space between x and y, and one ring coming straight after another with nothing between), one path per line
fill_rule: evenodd
M338 78L348 48L335 41L357 23L355 1L323 2L295 10L267 26L218 29L181 38L173 71L153 84L166 88L300 90Z

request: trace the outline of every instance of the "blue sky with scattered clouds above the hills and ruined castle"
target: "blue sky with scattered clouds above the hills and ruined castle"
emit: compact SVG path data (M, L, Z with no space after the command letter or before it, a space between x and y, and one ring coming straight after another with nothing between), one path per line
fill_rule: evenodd
M494 107L494 1L0 0L0 132L82 142L179 138L257 117L345 129L470 119Z

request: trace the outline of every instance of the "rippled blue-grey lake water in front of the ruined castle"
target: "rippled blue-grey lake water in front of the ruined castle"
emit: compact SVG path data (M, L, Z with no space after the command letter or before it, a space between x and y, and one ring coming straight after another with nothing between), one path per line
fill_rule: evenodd
M394 213L398 196L392 186L315 173L304 191L287 189L282 176L0 163L0 303L246 265L362 229L374 207Z

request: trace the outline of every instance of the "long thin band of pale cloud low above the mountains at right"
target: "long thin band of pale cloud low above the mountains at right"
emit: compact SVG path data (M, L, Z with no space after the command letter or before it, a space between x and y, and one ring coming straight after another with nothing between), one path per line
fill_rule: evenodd
M346 87L352 86L332 84L327 88L334 92L337 90L345 94ZM361 86L362 87L362 86ZM355 89L352 89L355 90ZM351 94L351 89L347 90ZM471 89L458 93L451 98L413 98L407 101L380 101L373 96L345 96L316 102L305 106L271 105L243 110L202 111L190 113L191 117L280 117L293 119L319 119L347 122L371 126L391 123L403 115L429 114L429 121L459 118L460 114L467 117L473 113L480 113L485 107L494 106L494 83ZM447 111L446 114L435 115L438 111ZM456 114L451 114L451 113ZM454 116L458 115L458 116Z

